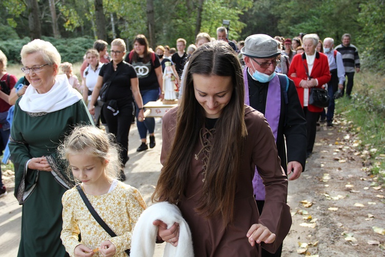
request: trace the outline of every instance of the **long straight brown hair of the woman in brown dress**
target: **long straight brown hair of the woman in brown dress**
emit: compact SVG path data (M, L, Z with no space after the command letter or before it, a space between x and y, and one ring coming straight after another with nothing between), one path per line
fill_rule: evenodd
M195 98L193 74L229 76L234 85L232 97L214 126L215 136L207 161L206 179L196 209L205 217L220 214L224 229L233 221L237 178L247 135L241 65L233 49L224 41L204 44L190 57L177 114L175 140L171 144L152 200L177 204L188 182L190 162L205 121L204 109Z

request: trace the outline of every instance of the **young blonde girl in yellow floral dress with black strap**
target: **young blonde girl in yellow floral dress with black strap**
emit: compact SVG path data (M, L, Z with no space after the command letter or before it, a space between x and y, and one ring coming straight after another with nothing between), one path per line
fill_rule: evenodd
M111 237L95 221L74 187L62 198L61 238L70 256L127 256L134 225L146 209L139 191L116 179L121 165L109 137L97 127L81 126L60 146L92 207L117 235Z

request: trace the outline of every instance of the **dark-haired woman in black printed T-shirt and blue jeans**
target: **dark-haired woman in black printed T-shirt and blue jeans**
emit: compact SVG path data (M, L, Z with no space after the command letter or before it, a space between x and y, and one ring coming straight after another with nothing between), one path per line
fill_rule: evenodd
M133 48L134 50L126 56L125 61L131 63L137 71L143 103L157 101L158 98L163 100L163 73L158 56L154 52L149 51L147 39L142 34L137 35L134 39ZM160 92L161 94L159 95ZM138 102L137 105L139 105ZM155 119L146 118L144 121L138 119L137 126L142 141L137 151L142 152L148 149L147 132L150 134L150 148L154 148Z

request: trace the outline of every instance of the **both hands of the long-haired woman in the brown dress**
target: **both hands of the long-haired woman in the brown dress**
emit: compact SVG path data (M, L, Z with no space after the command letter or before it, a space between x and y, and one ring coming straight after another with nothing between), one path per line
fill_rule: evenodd
M162 238L164 242L170 243L172 246L178 245L179 240L179 224L174 223L169 229L167 229L167 224L157 219L152 222L154 226L158 226L158 235ZM248 237L248 242L251 246L255 246L255 243L260 244L264 242L266 244L273 243L275 241L276 235L272 233L268 228L261 224L253 224L251 228L247 231L246 236Z

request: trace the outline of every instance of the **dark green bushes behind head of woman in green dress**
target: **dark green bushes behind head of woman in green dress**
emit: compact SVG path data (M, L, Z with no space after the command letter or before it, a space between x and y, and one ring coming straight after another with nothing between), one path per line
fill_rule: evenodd
M54 39L43 36L42 40L49 41L56 47L62 57L62 62L70 63L83 61L85 52L93 46L93 39L89 38ZM29 41L29 38L3 41L0 42L0 49L7 56L9 63L20 63L22 47Z

